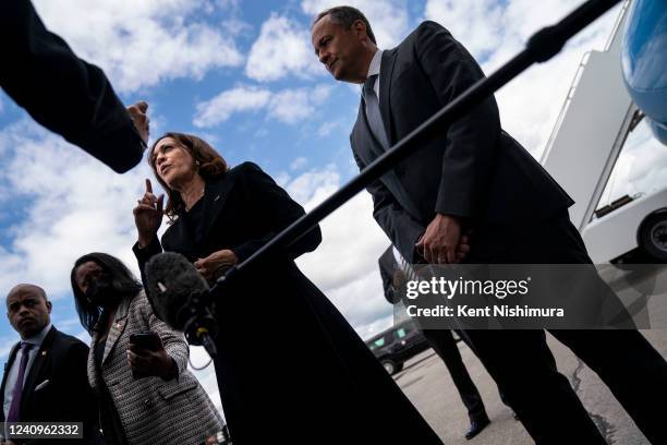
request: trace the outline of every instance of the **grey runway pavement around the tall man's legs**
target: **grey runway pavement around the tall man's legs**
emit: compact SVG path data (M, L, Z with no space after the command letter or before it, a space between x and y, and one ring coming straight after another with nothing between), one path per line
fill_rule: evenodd
M667 330L644 330L643 334L663 357L667 357ZM648 444L597 375L550 335L548 342L559 371L568 376L607 443ZM395 380L446 445L533 444L521 422L516 421L510 409L500 401L497 386L482 363L462 341L459 342L459 349L492 420L490 425L472 441L463 437L469 428L465 408L447 368L432 349L407 362L403 371L395 375Z

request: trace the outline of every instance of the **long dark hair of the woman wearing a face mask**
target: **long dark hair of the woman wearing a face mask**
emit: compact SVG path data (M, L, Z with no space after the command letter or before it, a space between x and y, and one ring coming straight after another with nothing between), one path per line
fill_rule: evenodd
M108 274L111 280L111 288L118 296L118 302L120 303L123 299L131 297L133 298L142 290L142 284L134 277L132 272L125 266L120 260L106 253L93 252L87 255L83 255L72 267L70 274L70 280L72 281L72 291L74 292L74 305L76 306L76 313L78 320L88 334L93 335L95 325L99 322L102 313L102 308L95 305L88 301L86 296L78 288L76 282L76 269L84 263L94 262L101 269Z

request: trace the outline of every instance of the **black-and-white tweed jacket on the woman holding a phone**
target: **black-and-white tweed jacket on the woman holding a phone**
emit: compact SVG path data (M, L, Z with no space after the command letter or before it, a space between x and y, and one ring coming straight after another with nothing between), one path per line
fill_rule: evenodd
M177 363L177 378L135 380L128 364L126 350L132 334L154 332ZM97 334L93 342L97 342ZM183 335L153 313L144 291L121 302L109 330L101 375L95 365L94 349L88 356L88 380L96 393L104 378L129 444L201 444L222 430L222 419L197 380L187 371L190 348ZM104 410L102 410L104 412ZM102 416L102 431L110 428Z

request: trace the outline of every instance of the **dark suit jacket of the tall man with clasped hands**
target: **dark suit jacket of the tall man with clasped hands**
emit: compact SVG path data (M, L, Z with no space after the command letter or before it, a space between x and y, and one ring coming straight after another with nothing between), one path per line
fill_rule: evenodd
M379 107L390 144L483 77L473 57L447 29L422 23L383 53ZM383 153L368 129L363 100L350 141L360 169ZM502 131L493 97L423 144L368 187L375 219L409 262L420 262L414 244L436 213L461 217L474 229L469 257L484 258L573 203Z

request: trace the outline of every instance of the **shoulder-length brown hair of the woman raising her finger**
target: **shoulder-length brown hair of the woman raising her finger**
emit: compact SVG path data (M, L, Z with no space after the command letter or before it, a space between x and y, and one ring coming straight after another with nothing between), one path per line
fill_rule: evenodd
M163 140L165 137L171 137L175 140L194 159L195 164L198 165L198 172L206 182L206 180L222 176L227 172L229 167L227 166L227 161L220 156L218 152L214 147L211 147L206 141L193 136L192 134L185 133L175 133L168 132L158 137L153 146L150 147L150 152L148 153L148 165L153 169L157 181L162 185L165 192L167 193L167 206L165 207L165 215L173 221L179 215L181 215L185 211L185 203L181 197L181 194L175 190L172 190L167 185L165 181L157 173L155 168L155 159L153 156L153 152L157 146L158 142Z

